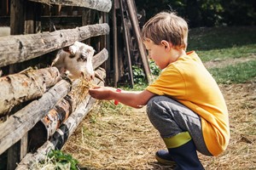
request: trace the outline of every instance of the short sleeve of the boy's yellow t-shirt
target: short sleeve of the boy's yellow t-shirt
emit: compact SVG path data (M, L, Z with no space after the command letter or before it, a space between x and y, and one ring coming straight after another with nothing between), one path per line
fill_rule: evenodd
M167 67L160 77L146 88L149 92L158 95L167 95L176 99L186 94L186 85L180 72L174 67Z

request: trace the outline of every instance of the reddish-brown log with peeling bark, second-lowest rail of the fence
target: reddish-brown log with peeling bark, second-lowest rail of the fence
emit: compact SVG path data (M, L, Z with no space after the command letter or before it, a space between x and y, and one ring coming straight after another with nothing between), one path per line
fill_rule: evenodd
M102 69L98 69L96 72L101 77L106 77L106 73ZM37 150L38 147L44 144L44 142L55 133L57 128L60 127L61 124L67 120L68 116L86 99L91 86L94 86L94 84L81 79L73 82L72 89L67 96L61 99L55 107L49 111L47 116L41 119L42 123L37 123L35 126L37 130L30 132L31 139L29 141L29 150ZM42 126L42 124L44 124L44 126ZM41 136L44 136L44 139L40 138Z

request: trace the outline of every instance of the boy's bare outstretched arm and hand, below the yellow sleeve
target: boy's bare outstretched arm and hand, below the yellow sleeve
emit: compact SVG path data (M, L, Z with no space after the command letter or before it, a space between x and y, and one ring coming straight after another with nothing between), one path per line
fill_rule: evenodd
M148 100L155 95L148 90L138 92L122 91L119 93L116 91L116 88L110 87L90 88L89 93L93 98L106 100L116 99L122 104L134 108L141 108L144 105L147 105Z

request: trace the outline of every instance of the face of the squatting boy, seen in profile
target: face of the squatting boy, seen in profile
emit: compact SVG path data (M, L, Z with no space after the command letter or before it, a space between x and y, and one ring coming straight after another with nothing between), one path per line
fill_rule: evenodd
M167 53L164 44L156 45L150 39L147 39L143 43L148 50L148 58L153 59L155 65L159 66L160 70L165 69L171 63L170 53Z

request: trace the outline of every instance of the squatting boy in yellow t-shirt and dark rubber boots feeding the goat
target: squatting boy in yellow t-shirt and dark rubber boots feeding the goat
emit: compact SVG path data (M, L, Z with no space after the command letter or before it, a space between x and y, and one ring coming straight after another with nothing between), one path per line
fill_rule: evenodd
M174 13L156 14L143 26L148 56L163 70L142 92L117 92L91 88L96 99L116 99L140 108L147 105L150 122L159 131L167 150L155 157L177 169L203 169L196 150L218 156L230 140L227 107L217 83L194 51L186 53L188 25Z

